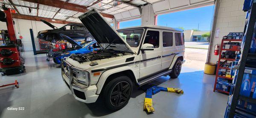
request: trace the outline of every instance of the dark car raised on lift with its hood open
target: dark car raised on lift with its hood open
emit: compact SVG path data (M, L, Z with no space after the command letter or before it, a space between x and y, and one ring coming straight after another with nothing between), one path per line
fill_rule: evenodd
M63 40L60 34L66 35L76 41L84 40L84 41L91 41L94 40L93 36L90 32L84 27L81 23L69 23L61 28L57 28L56 26L52 25L51 23L47 22L46 20L41 21L47 24L52 29L44 30L38 32L38 38L41 40L47 40L52 43L56 43L57 40Z

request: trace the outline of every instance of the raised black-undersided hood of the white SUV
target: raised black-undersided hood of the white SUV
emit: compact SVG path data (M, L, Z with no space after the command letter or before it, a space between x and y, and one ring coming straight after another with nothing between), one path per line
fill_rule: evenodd
M108 22L95 9L85 12L79 19L94 39L104 49L135 53L126 41L113 29ZM110 45L111 44L111 45Z

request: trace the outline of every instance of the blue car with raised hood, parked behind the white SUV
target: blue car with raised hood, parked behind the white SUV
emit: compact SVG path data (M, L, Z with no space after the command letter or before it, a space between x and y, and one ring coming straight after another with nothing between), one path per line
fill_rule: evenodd
M52 54L54 63L61 64L61 59L70 55L86 54L101 49L101 47L95 40L79 44L68 36L65 36L63 34L60 35L64 38L64 40L67 40L72 45L72 47L54 52Z

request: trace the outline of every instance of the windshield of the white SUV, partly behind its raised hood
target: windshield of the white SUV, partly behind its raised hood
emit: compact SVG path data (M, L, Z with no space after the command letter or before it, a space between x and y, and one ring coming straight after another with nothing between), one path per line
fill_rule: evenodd
M117 32L131 47L138 47L140 45L140 40L143 35L143 31L144 29L128 29Z

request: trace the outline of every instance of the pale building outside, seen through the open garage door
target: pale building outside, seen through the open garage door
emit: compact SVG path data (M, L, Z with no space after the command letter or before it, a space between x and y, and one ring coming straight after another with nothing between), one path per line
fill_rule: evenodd
M207 42L208 37L202 37L203 34L210 31L194 31L193 29L184 30L184 39L186 42Z

